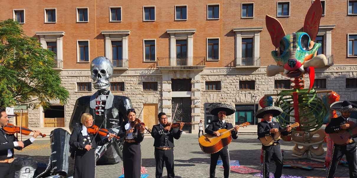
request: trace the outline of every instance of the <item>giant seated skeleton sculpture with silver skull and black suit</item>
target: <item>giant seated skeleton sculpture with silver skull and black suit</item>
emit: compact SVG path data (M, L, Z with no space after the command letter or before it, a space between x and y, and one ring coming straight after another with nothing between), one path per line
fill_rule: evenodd
M91 96L82 96L74 105L69 128L79 126L83 113L89 112L93 116L94 124L109 129L111 133L118 133L123 121L128 121L126 111L132 108L130 99L125 96L113 95L107 88L110 87L110 78L113 66L106 57L97 57L91 62L91 78L93 87L98 91ZM97 135L99 136L99 135ZM51 132L51 155L44 172L36 178L66 176L68 173L69 133L64 129L55 129ZM96 161L104 164L115 164L122 157L122 143L116 140L96 148Z

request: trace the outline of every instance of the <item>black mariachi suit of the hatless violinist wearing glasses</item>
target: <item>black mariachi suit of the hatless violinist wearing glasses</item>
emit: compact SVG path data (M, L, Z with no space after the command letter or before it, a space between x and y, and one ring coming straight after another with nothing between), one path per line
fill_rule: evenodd
M177 131L176 131L177 130ZM170 147L170 150L160 150L155 148L156 160L156 178L162 178L162 168L164 162L167 169L167 178L174 178L174 138L178 140L181 137L180 129L171 129L170 132L164 131L160 124L152 126L151 136L154 137L154 147Z

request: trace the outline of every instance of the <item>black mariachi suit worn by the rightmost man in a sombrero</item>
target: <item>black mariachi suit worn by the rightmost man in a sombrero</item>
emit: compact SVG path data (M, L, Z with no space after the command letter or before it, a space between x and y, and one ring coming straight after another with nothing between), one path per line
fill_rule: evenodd
M326 133L336 133L341 130L341 125L346 124L347 120L342 116L332 118L330 124L325 128ZM330 166L327 169L326 177L334 177L337 170L337 164L340 162L343 155L346 155L348 168L350 169L350 177L357 178L357 158L356 158L356 143L347 145L333 145Z

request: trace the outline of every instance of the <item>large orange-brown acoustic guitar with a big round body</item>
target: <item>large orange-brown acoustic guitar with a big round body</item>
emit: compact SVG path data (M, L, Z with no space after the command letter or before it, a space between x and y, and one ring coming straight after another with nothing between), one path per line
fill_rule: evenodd
M250 125L249 122L245 122L243 124L238 125L239 127L246 127ZM227 146L232 141L231 131L232 129L220 129L217 130L220 132L220 135L211 135L206 133L198 138L199 145L201 150L205 153L216 153L220 151L223 147Z

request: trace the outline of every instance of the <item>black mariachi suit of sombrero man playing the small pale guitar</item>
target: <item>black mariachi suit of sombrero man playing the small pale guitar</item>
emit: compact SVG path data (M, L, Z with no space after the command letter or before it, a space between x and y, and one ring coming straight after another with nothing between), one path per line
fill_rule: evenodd
M280 126L278 122L272 122L273 127L270 127L267 121L259 122L258 123L258 138L265 137L265 136L274 136L273 133L270 133L270 129L278 129L282 130L283 127ZM287 131L281 132L281 135L288 135ZM275 142L279 143L279 142ZM276 169L274 173L275 178L280 178L281 173L283 171L283 157L280 150L280 145L270 145L264 146L263 145L263 178L269 177L269 163L270 159L273 158L275 161Z

